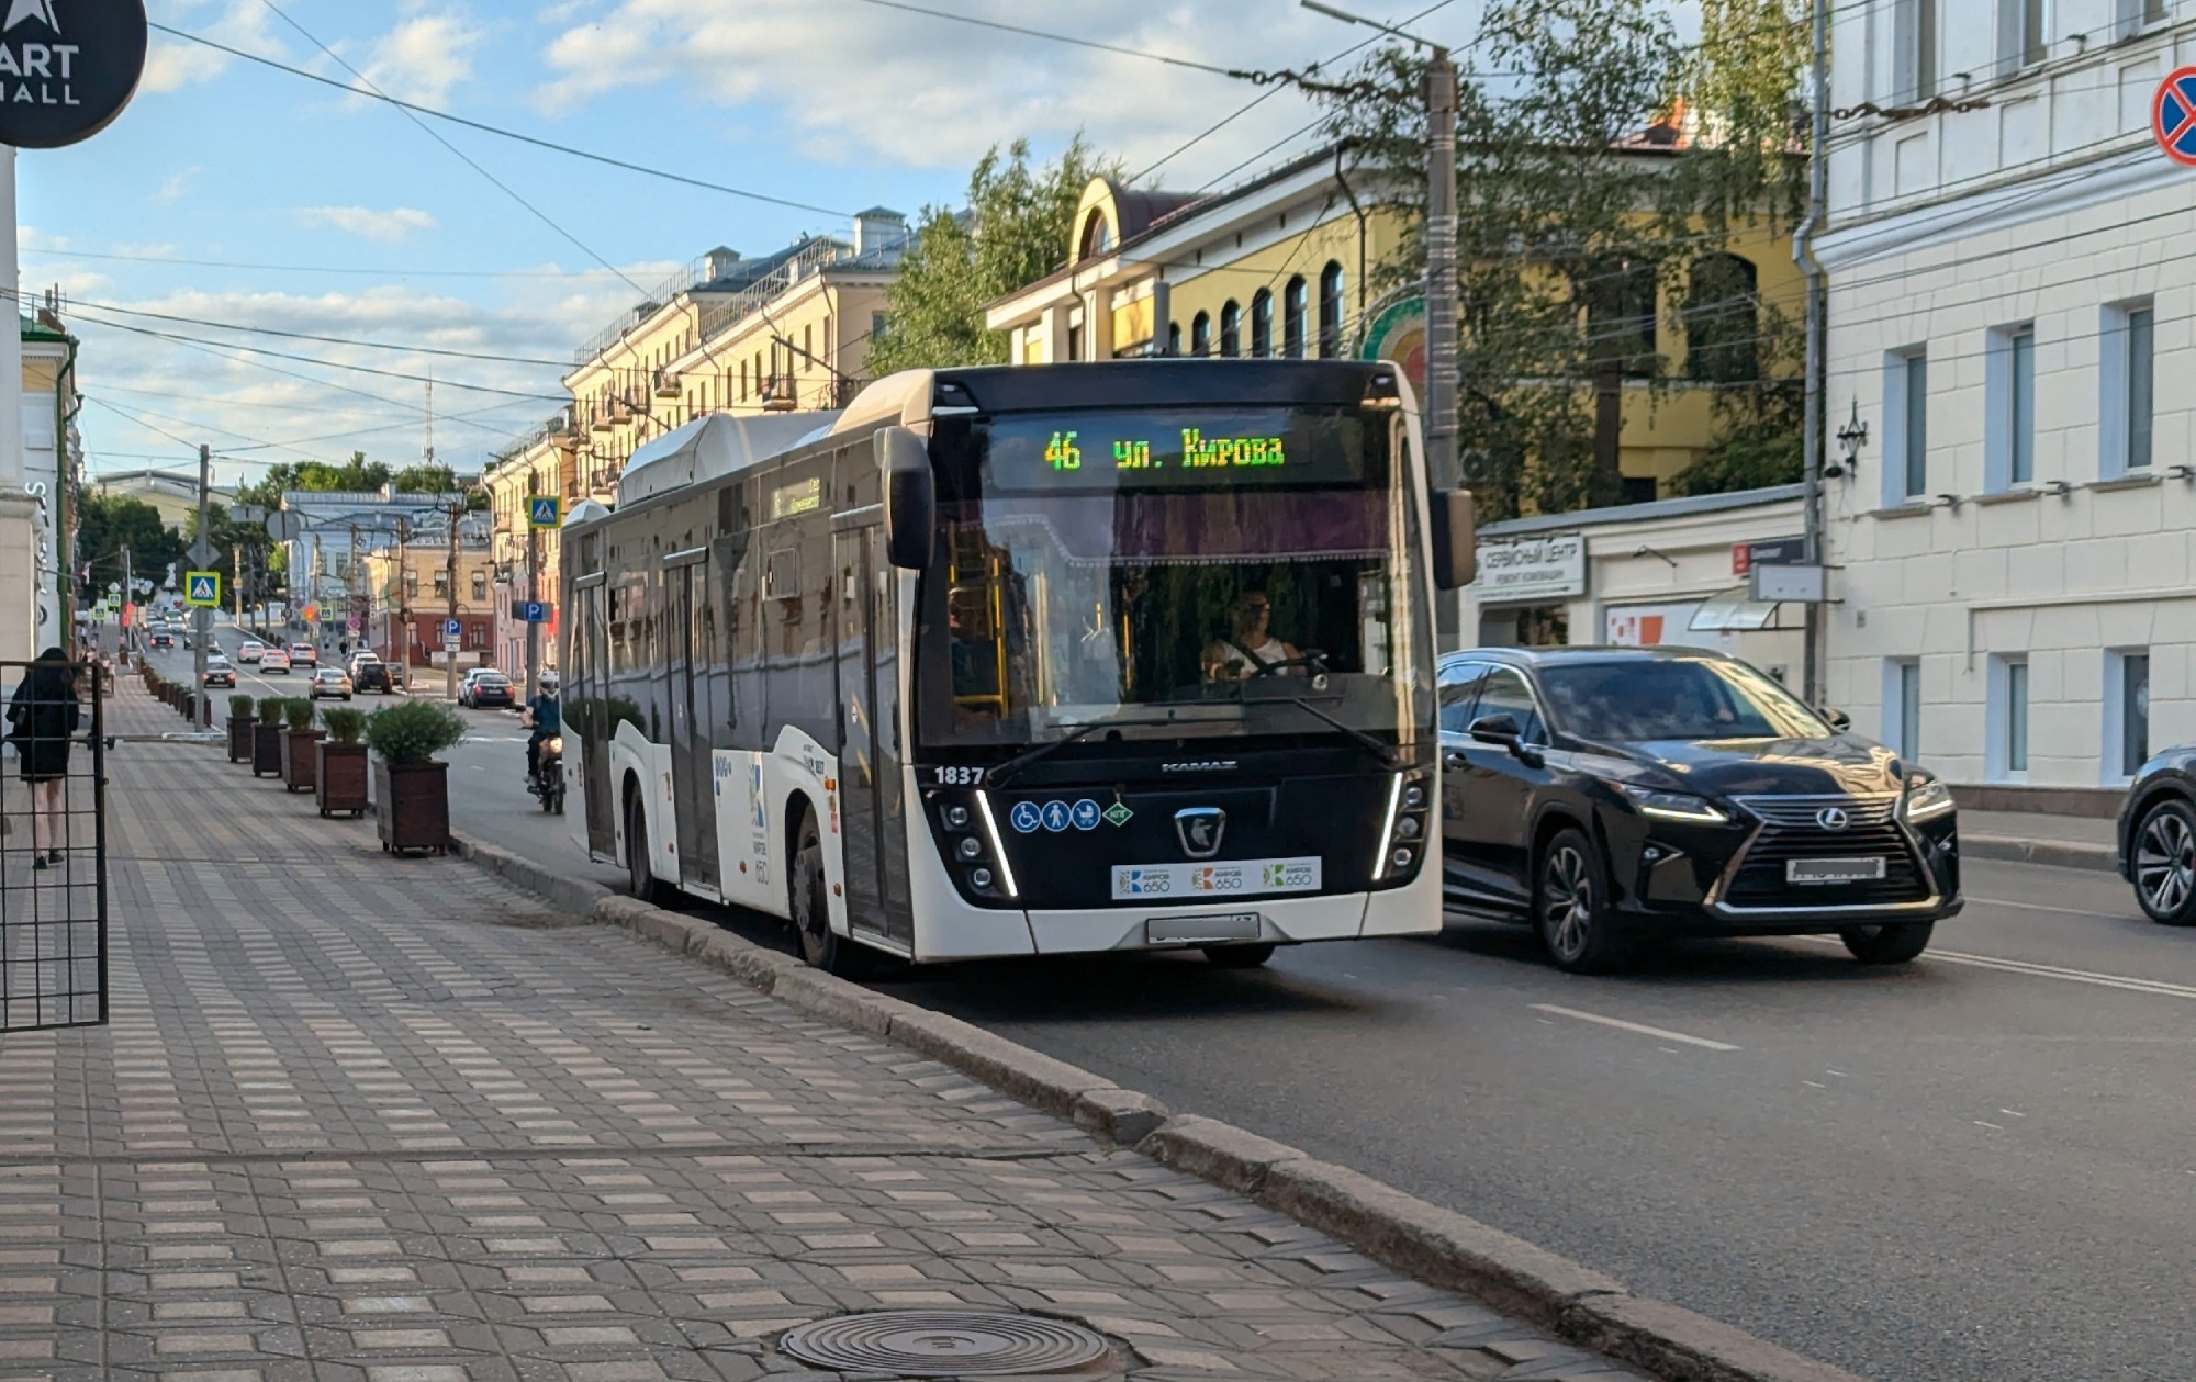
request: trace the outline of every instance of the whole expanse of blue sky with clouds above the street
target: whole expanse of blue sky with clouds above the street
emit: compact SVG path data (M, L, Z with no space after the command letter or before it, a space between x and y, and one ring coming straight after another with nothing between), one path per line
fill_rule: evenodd
M1329 59L1366 35L1296 0L922 2L1254 68ZM1405 18L1432 2L1368 0L1364 11ZM551 228L384 103L156 33L145 86L121 121L75 149L24 154L18 171L22 285L26 294L57 285L75 305L94 472L184 463L193 454L184 443L202 439L220 452L222 480L257 478L268 461L340 461L351 450L415 461L426 441L424 386L343 366L433 373L437 452L477 469L556 401L461 386L558 395L558 366L525 360L569 360L641 296L626 279L652 287L720 243L762 254L802 233L843 235L839 213L876 204L909 217L953 204L975 158L1015 136L1052 154L1083 129L1142 169L1261 94L870 0L274 4L391 94L819 211L435 123ZM1419 26L1463 42L1476 9L1452 0ZM351 81L268 0L152 0L152 15ZM1195 189L1241 178L1309 145L1300 129L1311 118L1298 97L1276 94L1153 182ZM130 311L494 360L270 340ZM228 349L239 340L314 362L253 362Z

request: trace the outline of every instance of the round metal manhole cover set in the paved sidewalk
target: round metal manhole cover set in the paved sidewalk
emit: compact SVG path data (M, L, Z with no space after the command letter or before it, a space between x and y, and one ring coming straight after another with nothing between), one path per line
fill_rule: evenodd
M777 1347L817 1367L903 1378L1063 1373L1107 1351L1078 1325L962 1310L845 1314L791 1329Z

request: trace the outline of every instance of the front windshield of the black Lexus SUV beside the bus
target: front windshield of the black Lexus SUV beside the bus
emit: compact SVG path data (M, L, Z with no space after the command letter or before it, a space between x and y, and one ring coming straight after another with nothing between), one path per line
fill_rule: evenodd
M1746 662L1625 658L1544 667L1555 722L1581 739L1820 739L1836 730Z

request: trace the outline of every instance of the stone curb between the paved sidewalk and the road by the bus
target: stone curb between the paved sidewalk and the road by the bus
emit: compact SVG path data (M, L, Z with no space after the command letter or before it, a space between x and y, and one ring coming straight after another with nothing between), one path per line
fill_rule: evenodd
M720 926L562 880L509 851L459 840L457 853L578 910L769 994L808 1016L881 1035L1159 1165L1236 1191L1427 1285L1537 1325L1662 1382L1862 1382L1706 1316L1634 1296L1621 1281L1348 1167L1219 1119L1175 1114L1151 1095L1010 1042L960 1018L874 994L764 950ZM551 886L534 886L525 880ZM556 884L564 893L553 891Z

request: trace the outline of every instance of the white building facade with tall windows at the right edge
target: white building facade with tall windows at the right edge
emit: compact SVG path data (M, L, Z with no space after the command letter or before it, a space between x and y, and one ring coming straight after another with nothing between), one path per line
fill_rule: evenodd
M1834 127L1816 248L1825 702L1954 783L2117 788L2196 737L2196 167L2150 132L2196 4L1831 24L1831 105L1884 114Z

